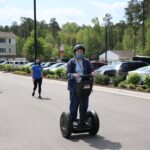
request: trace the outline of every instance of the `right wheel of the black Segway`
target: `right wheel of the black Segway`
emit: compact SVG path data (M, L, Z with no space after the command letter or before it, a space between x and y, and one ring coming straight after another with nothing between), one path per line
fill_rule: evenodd
M87 122L91 125L89 134L96 135L99 130L100 122L98 115L94 110L87 112Z

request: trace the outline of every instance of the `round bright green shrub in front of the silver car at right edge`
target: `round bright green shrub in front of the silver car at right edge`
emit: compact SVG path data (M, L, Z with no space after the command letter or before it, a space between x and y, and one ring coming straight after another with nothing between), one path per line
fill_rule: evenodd
M137 85L141 80L141 76L137 73L128 76L127 83Z

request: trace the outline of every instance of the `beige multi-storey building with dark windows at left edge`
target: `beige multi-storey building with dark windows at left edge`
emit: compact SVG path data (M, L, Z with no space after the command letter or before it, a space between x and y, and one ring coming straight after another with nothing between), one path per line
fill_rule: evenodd
M11 32L0 32L0 60L11 60L16 57L16 37Z

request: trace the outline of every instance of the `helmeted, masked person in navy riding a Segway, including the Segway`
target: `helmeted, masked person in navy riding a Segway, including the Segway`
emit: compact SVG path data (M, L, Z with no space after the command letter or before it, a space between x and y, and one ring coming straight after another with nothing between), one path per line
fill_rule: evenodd
M68 90L70 92L70 112L69 114L62 113L60 119L60 127L64 137L70 136L68 132L80 133L84 131L87 132L88 130L90 131L91 129L89 126L88 130L84 127L87 127L86 124L88 123L86 121L89 95L93 87L93 78L91 79L91 77L95 72L90 61L83 57L85 53L85 47L83 45L76 45L73 48L73 53L74 57L70 59L67 66ZM77 119L78 108L80 111L80 119ZM95 114L96 113L94 112L94 115ZM97 133L99 129L99 119L97 114L96 117ZM64 120L66 120L67 123L65 123ZM83 130L81 131L79 128Z

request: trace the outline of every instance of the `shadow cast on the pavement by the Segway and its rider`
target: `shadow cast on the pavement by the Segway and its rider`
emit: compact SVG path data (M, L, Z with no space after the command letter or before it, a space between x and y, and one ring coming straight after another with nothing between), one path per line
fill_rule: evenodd
M96 136L90 136L88 134L82 134L82 135L73 135L70 140L72 142L78 142L79 140L85 141L89 144L89 146L97 148L99 150L119 150L121 149L121 143L119 142L112 142L105 137L96 135Z

